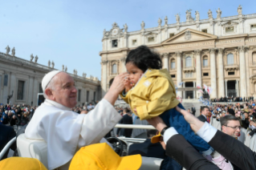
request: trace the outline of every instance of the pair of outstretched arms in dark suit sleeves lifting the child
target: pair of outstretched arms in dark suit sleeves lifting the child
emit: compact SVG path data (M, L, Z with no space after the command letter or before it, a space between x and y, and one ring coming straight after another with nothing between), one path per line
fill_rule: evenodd
M219 152L232 164L235 164L241 169L256 169L256 153L253 152L246 145L234 139L223 132L217 131L209 123L203 123L188 111L176 107L184 115L185 120L190 124L198 136L201 136L207 143L209 143L215 151ZM157 116L148 119L148 123L156 127L156 130L163 134L161 144L168 156L172 156L184 168L191 170L217 170L214 164L201 156L183 136L177 133L173 127L167 127L161 117ZM215 166L215 167L214 167Z

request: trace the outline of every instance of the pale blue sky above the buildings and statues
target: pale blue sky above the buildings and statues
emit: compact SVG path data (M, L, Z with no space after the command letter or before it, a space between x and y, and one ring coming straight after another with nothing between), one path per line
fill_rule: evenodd
M175 23L175 14L181 14L185 22L185 11L195 10L201 19L208 18L207 11L222 10L221 17L237 15L242 5L243 14L256 13L254 0L0 0L0 51L15 47L16 56L30 60L30 55L39 56L38 63L55 62L55 68L67 72L78 71L101 78L99 52L102 51L103 30L112 29L116 22L120 28L127 23L128 31L156 27L158 18L169 18Z

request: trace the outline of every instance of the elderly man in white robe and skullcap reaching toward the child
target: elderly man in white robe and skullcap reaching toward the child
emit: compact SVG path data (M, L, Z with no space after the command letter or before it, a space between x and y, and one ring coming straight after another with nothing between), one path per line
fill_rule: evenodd
M28 123L25 136L47 142L49 169L68 169L77 148L100 142L119 122L122 117L113 105L124 90L122 81L127 76L127 73L117 75L104 99L87 115L71 111L77 103L77 90L71 75L51 71L43 77L46 99Z

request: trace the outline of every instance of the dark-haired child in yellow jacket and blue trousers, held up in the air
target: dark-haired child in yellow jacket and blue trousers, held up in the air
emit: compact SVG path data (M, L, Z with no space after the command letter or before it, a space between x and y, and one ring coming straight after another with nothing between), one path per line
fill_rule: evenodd
M176 106L185 108L176 99L176 90L169 71L161 70L158 54L140 46L129 52L125 61L129 77L124 79L125 91L121 97L140 119L160 116L165 124L174 127L197 151L205 157L213 152L209 144L195 135Z

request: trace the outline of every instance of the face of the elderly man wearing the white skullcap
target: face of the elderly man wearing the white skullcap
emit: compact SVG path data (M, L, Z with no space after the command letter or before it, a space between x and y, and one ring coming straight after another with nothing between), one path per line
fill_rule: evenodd
M52 91L54 100L65 107L75 107L77 90L74 79L67 73L60 72L56 75L55 89Z

